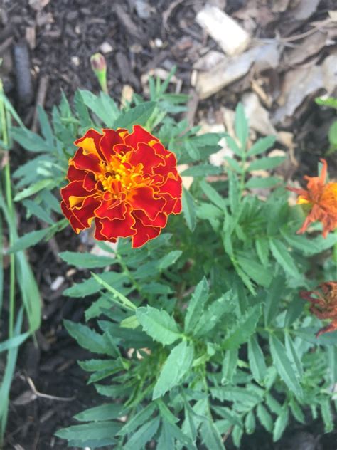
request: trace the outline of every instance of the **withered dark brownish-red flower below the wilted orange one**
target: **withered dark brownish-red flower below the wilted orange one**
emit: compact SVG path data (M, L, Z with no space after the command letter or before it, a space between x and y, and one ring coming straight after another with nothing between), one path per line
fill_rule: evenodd
M332 322L316 333L316 338L323 333L337 330L337 281L325 281L319 285L320 291L301 291L299 295L311 303L311 313L319 319L331 319ZM315 295L313 297L313 295Z

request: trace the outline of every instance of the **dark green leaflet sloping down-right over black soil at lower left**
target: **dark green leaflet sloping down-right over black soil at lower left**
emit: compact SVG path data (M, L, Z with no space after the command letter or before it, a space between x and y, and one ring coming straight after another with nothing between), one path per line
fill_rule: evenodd
M102 355L110 355L109 348L102 335L91 330L82 323L75 323L71 320L63 320L66 330L81 347L90 350L93 353L100 353Z

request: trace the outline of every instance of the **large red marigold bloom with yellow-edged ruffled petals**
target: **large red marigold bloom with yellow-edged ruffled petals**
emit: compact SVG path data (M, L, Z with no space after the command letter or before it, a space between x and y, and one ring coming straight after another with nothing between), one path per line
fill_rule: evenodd
M131 236L136 248L159 236L169 214L181 212L176 157L140 125L131 133L88 130L75 145L61 208L77 233L95 221L99 241Z

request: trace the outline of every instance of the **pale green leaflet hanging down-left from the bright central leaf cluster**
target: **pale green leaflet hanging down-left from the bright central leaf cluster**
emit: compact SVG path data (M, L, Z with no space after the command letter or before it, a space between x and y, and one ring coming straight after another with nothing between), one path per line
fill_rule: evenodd
M153 400L162 397L172 387L181 382L181 379L191 367L193 355L193 347L188 345L186 341L173 348L154 386Z

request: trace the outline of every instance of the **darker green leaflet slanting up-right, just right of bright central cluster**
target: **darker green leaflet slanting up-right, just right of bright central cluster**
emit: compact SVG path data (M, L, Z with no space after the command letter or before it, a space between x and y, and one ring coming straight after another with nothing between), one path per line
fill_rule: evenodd
M249 308L245 315L242 315L233 328L230 329L228 336L221 343L224 350L238 348L250 338L254 333L257 321L261 315L260 305Z

